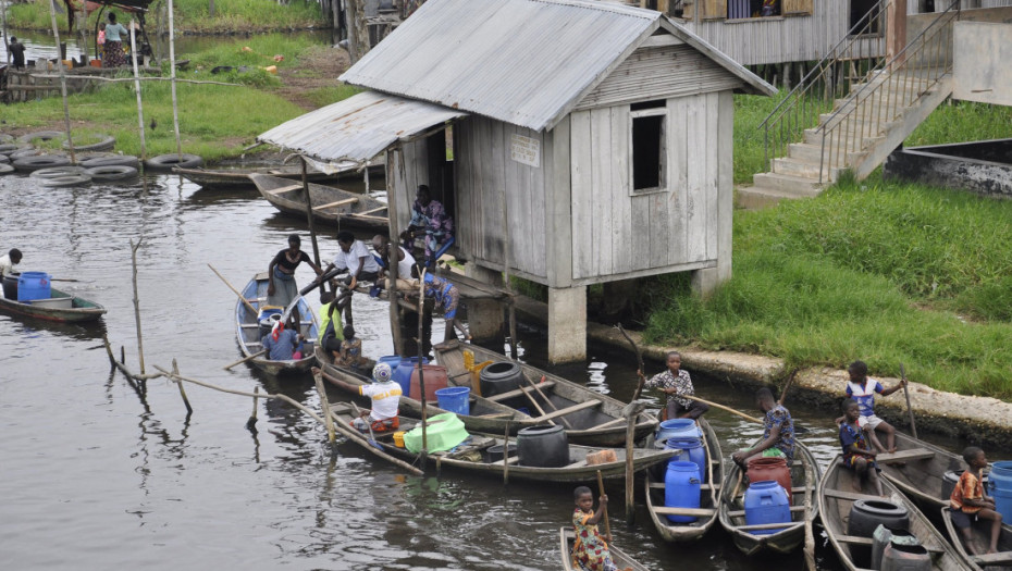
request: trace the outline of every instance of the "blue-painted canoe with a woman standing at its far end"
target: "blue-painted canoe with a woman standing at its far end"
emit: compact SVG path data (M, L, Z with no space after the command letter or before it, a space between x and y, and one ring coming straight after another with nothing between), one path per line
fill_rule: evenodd
M254 278L246 284L246 287L243 288L243 297L257 309L267 305L267 272L261 272L254 276ZM297 308L299 312L299 332L306 337L306 342L303 344L303 353L305 357L301 359L272 361L264 355L249 360L248 362L250 364L269 374L276 375L308 371L309 368L316 363L317 360L313 356L312 347L319 335L317 315L305 299L298 300ZM249 308L246 307L246 303L243 303L242 299L236 299L235 302L235 338L239 344L239 349L243 351L243 357L249 357L263 349L263 345L260 343L262 336L260 335L260 323L257 321L257 313L250 311Z

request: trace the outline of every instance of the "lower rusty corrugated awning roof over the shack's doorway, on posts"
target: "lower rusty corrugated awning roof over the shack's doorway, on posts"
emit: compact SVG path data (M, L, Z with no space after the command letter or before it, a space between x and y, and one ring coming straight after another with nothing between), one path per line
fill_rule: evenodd
M397 140L464 115L423 101L366 91L282 123L257 140L319 163L363 163Z

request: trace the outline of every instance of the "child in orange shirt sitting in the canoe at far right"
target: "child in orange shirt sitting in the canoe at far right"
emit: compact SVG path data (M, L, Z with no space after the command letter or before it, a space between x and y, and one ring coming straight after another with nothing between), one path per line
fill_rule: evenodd
M972 555L982 555L973 546L974 520L988 520L991 522L991 542L987 548L988 554L998 553L998 538L1001 536L1001 513L995 509L995 498L984 495L984 484L980 471L987 468L987 457L984 450L976 446L963 449L963 460L967 470L963 471L960 481L949 496L949 509L952 523L965 538L966 550Z

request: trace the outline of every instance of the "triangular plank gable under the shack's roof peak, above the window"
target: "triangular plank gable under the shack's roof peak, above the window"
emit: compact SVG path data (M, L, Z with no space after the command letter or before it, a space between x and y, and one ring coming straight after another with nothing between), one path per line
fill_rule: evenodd
M686 45L640 48L588 94L576 109L720 91L733 89L742 83L741 78L695 48Z

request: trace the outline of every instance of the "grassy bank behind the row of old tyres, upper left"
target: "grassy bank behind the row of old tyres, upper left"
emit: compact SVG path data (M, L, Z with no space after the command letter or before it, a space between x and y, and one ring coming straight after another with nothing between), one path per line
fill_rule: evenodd
M250 50L244 51L244 47ZM183 151L200 154L208 161L237 156L260 133L305 113L279 95L281 80L259 66L270 64L282 70L297 69L300 65L299 54L311 54L317 49L297 38L263 35L194 54L190 58L192 70L181 72L181 78L242 82L242 85L178 84ZM272 59L275 53L286 54L285 59L275 64ZM250 71L212 75L209 70L215 65L246 65ZM319 99L324 104L351 92L348 89L334 90L321 94ZM175 152L169 83L144 83L141 97L148 156ZM75 137L104 133L116 137L118 151L140 154L133 83L107 84L95 92L71 96L69 103ZM237 112L239 110L242 112ZM3 113L4 131L63 129L60 98L7 105ZM157 122L153 129L150 128L152 120Z

